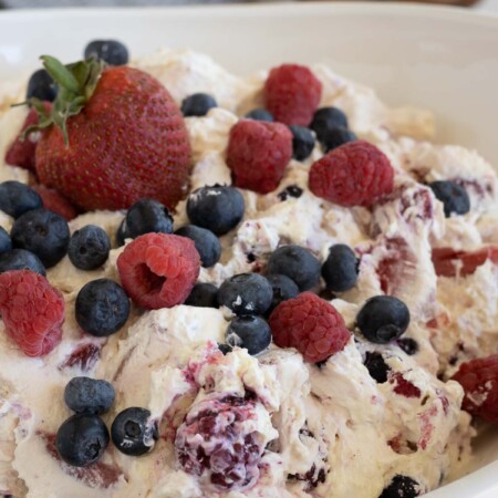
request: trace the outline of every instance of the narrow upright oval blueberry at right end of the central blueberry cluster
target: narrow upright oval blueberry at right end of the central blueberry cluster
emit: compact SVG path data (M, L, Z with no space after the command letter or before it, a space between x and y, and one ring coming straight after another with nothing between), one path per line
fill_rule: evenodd
M322 277L326 288L333 292L344 292L356 283L359 260L349 246L336 243L329 250L322 264Z

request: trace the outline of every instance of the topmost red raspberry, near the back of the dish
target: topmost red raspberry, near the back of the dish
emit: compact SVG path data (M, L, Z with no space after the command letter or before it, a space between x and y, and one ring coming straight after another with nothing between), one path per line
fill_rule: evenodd
M273 68L264 84L268 111L287 125L308 126L322 96L322 84L305 66Z

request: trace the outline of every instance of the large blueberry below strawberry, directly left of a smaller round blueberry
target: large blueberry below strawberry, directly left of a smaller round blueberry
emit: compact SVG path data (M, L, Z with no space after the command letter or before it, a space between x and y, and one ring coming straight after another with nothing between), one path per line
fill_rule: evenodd
M45 268L51 268L68 252L70 230L56 212L33 209L14 221L10 237L13 247L34 252Z

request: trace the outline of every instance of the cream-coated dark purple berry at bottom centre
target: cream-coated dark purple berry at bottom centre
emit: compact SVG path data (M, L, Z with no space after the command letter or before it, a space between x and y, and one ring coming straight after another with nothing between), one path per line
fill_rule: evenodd
M243 491L259 478L264 448L253 429L257 402L210 394L196 403L178 427L175 452L184 471L217 491Z

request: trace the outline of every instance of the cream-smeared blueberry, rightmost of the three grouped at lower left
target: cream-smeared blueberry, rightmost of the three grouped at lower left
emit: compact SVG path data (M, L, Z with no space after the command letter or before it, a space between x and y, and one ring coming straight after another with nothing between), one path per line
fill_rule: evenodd
M111 437L120 452L139 456L154 448L159 435L157 424L151 422L151 412L132 407L123 409L114 418Z

